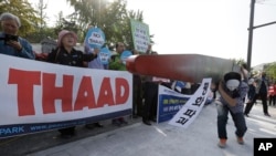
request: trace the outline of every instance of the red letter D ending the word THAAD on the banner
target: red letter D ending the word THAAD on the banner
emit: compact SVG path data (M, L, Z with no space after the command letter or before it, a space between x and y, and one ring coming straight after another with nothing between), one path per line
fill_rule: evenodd
M129 96L129 85L127 80L117 77L115 80L115 87L116 87L116 96L115 96L116 104L126 103Z

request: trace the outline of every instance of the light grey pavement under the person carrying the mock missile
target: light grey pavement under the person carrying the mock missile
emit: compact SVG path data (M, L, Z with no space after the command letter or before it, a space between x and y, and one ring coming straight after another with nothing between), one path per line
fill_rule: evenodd
M26 156L253 156L253 138L276 137L276 107L269 106L268 111L272 117L264 116L262 104L253 106L246 117L245 145L236 143L230 117L227 146L223 149L216 145L216 110L212 104L203 107L187 129L168 123L147 126L136 122Z

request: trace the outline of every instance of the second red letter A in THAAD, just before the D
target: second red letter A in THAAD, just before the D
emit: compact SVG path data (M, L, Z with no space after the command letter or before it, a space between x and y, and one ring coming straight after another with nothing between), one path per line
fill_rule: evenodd
M103 107L105 104L115 105L110 77L104 77L98 94L97 107Z

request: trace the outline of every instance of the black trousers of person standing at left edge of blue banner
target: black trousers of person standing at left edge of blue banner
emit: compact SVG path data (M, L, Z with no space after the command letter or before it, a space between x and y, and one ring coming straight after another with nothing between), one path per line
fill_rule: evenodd
M152 119L157 114L158 83L145 82L142 119Z

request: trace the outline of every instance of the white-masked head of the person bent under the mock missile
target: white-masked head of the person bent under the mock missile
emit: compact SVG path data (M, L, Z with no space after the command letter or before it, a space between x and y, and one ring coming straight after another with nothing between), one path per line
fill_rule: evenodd
M224 75L224 82L230 91L234 91L240 86L242 76L236 72L229 72Z

